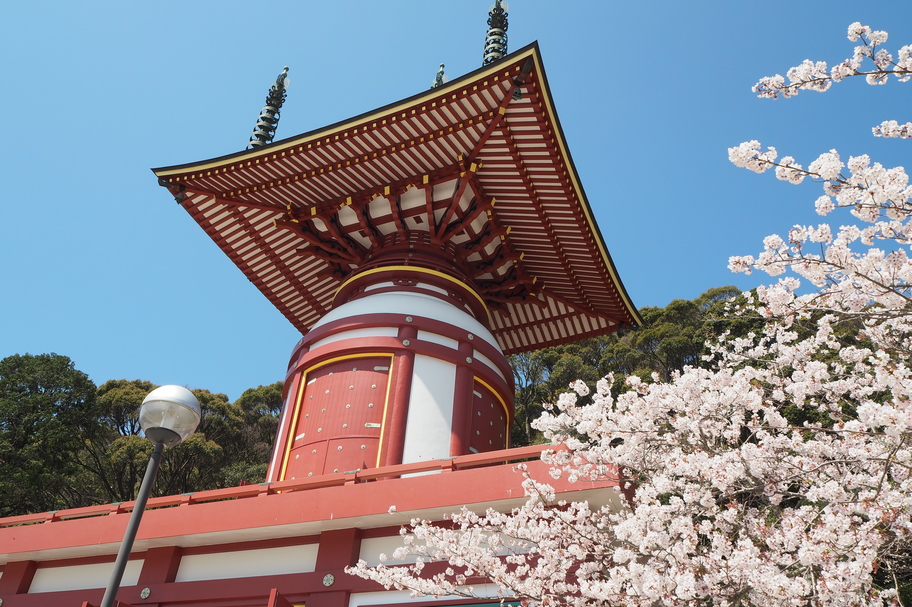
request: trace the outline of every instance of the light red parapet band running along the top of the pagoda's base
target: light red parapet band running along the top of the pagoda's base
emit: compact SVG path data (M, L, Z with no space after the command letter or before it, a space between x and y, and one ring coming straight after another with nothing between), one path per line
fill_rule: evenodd
M322 488L290 491L288 486L283 486L284 483L276 483L276 490L284 490L284 493L256 499L207 502L184 508L153 509L144 514L137 541L217 533L232 529L267 528L306 521L339 521L349 517L377 516L377 524L385 525L391 505L395 505L399 511L405 511L451 506L458 508L466 503L511 499L522 495L521 475L515 473L512 466L465 470L459 468L465 465L478 466L531 458L541 449L542 447L538 446L532 450L510 449L460 456L445 462L456 470L444 474L389 479L383 482L356 482L352 485L345 484L345 476L336 475L323 477L329 480L338 478L335 486L321 486L322 479L315 478L312 479L314 487ZM385 470L368 470L355 476L356 480L369 481L389 475L409 474L435 468L439 470L441 464L440 461L418 462ZM548 466L542 462L530 461L528 467L537 478L548 479ZM612 483L608 482L588 481L568 484L561 479L549 479L548 482L554 485L557 491L570 493L612 486ZM567 499L572 499L572 496L568 496ZM128 518L129 515L124 513L34 527L0 529L0 545L4 546L11 559L15 559L17 552L32 550L95 544L116 546L123 537L123 528Z

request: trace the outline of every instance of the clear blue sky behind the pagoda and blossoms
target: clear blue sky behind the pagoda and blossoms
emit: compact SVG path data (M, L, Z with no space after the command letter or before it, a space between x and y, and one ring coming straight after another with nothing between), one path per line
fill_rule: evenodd
M383 106L481 62L490 0L7 2L0 6L0 357L56 352L97 383L147 379L232 399L282 379L300 337L151 167L243 149L290 67L278 137ZM902 3L514 0L574 162L637 306L725 284L730 255L820 220L819 186L732 166L748 139L807 165L831 148L903 165L875 139L912 120L910 84L860 80L757 99L805 58L849 56L853 21L912 43ZM905 12L903 15L902 13ZM834 223L848 222L834 215ZM767 281L770 279L767 277Z

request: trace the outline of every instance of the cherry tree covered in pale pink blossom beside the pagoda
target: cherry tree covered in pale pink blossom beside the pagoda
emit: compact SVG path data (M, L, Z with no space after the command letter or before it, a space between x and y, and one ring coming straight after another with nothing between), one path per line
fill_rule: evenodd
M754 91L787 98L854 76L874 85L912 76L912 45L894 58L881 48L885 32L854 23L848 33L859 42L850 59L805 61ZM874 134L910 130L888 121ZM794 184L819 182L817 212L846 209L856 221L795 226L767 237L756 258L731 258L734 271L781 278L732 302L729 314L759 316L763 329L711 344L711 369L667 382L609 376L591 394L576 382L535 422L566 447L543 456L553 475L613 480L630 499L564 503L545 479L527 478L522 507L413 521L394 557L414 564L351 573L434 596L475 596L473 582L486 579L502 597L545 606L908 601L899 592L912 578L908 176L835 150L807 168L756 141L729 155Z

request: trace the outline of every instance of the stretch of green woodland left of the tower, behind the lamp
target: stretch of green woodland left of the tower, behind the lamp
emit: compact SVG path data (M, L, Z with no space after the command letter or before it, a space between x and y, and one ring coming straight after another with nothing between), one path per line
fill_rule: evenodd
M139 407L155 384L96 388L66 356L0 360L0 516L133 500L152 444ZM224 394L193 390L200 425L167 449L154 495L262 482L281 409L282 382Z

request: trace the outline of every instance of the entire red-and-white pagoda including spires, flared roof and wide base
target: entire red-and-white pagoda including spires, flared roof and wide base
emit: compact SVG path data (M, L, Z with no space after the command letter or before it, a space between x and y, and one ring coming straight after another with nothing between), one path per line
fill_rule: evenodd
M547 475L542 447L510 448L506 356L640 319L538 45L505 54L499 1L489 25L480 69L273 142L286 68L247 150L154 170L303 337L266 483L151 499L123 605L430 604L344 568L391 554L411 518L519 505L513 462ZM131 508L0 519L0 605L97 605Z

